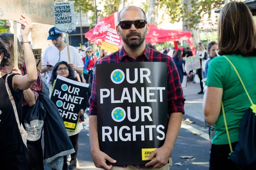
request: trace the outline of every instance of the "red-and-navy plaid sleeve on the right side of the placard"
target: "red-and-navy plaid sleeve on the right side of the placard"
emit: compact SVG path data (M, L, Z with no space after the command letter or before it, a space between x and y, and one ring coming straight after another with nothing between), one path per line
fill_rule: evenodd
M174 60L170 57L167 63L168 75L168 114L171 113L185 113L183 91L181 88L179 73L177 71Z

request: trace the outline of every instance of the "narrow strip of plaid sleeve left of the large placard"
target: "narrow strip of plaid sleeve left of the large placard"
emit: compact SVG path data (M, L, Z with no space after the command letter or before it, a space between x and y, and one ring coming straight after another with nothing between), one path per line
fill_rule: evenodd
M90 105L89 116L97 115L96 70L94 71L94 75L93 75L92 91L89 99L89 105Z

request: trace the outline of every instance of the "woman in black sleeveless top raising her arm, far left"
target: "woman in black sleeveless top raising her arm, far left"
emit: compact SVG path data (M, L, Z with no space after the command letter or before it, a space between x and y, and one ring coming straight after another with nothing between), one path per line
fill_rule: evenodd
M29 18L21 15L18 23L21 24L24 58L27 74L21 76L18 68L14 67L12 74L0 72L0 164L8 164L9 169L28 170L29 156L26 148L26 131L22 121L22 94L37 79L36 62L28 42L29 32L33 26ZM0 70L11 63L10 48L0 41Z

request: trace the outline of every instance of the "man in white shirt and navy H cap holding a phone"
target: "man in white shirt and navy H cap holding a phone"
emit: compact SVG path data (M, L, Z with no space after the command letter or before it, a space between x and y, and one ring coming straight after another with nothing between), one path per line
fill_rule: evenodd
M52 77L52 69L57 62L65 61L68 62L67 54L67 44L63 40L63 34L55 33L55 27L49 30L49 37L47 40L52 40L53 45L48 46L43 55L42 59L42 73L48 72L47 84L49 84ZM76 71L78 74L83 74L84 64L79 56L78 50L70 47L70 61L69 63L72 70Z

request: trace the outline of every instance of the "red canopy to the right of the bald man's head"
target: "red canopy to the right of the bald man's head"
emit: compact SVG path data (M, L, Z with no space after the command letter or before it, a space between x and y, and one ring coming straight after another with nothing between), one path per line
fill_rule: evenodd
M160 42L168 42L168 41L180 41L180 40L188 40L189 47L192 51L193 56L196 55L195 47L192 39L192 35L190 31L175 31L175 30L166 30L162 28L158 28L157 26L149 23L150 30L146 36L146 42L150 43L160 43ZM175 47L176 49L177 47Z

